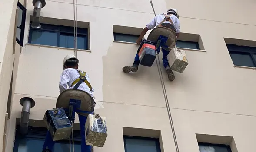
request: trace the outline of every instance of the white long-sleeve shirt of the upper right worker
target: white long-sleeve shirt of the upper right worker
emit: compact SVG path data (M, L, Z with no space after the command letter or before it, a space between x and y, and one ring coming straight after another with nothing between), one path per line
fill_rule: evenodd
M155 16L154 19L152 19L152 21L149 24L146 25L146 27L149 30L152 30L157 25L159 25L163 21L164 18L165 18L164 14L159 14L159 15ZM171 15L170 19L173 21L173 24L174 24L173 26L176 29L176 33L180 33L180 21L179 21L179 19L175 15ZM163 23L170 23L170 22L165 21Z

